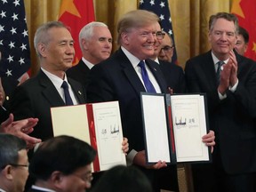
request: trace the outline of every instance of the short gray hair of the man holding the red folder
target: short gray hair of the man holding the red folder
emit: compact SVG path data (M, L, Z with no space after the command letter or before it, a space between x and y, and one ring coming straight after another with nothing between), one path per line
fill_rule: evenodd
M42 26L36 29L36 34L34 37L34 46L36 49L36 54L41 57L40 53L38 52L37 45L39 43L48 44L51 41L51 36L49 36L48 31L51 28L69 28L65 26L60 21L49 21L47 23L44 23Z

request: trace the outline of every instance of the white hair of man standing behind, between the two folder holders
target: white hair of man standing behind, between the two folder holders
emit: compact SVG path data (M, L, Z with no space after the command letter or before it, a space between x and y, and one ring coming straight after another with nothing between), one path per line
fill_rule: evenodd
M105 27L108 26L103 22L92 21L84 26L79 32L79 44L80 48L83 49L82 39L89 40L93 35L93 28L95 27Z

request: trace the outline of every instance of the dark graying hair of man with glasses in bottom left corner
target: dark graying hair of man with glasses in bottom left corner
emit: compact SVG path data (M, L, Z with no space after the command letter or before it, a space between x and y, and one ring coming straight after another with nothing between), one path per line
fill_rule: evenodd
M18 164L19 151L26 148L25 140L12 134L0 133L0 168L3 169L7 164Z

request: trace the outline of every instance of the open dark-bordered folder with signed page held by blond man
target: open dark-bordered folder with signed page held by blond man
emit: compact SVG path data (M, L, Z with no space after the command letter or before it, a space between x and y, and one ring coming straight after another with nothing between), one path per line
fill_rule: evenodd
M148 164L211 162L204 94L141 93Z

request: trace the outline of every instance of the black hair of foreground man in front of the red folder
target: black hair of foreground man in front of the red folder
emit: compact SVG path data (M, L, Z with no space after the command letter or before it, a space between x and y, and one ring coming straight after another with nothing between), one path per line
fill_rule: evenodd
M29 173L40 180L50 178L52 172L71 174L91 164L96 151L83 140L61 135L44 143L36 150L29 164Z

